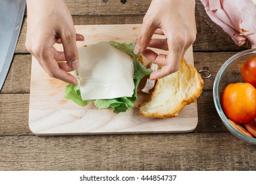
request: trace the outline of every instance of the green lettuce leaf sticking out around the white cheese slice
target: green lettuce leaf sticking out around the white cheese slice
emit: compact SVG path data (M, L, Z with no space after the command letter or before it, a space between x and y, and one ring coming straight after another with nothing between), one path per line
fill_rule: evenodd
M151 69L145 68L139 60L141 55L134 54L135 43L118 43L116 41L109 41L113 47L123 51L129 55L134 61L134 94L132 97L120 97L116 99L97 99L93 100L97 108L114 108L113 112L116 114L120 112L126 112L127 109L131 109L134 106L134 102L137 99L137 89L141 79L144 76L151 74ZM79 85L66 85L66 95L65 98L74 103L79 104L80 106L86 106L89 101L83 101L80 95L80 86Z

